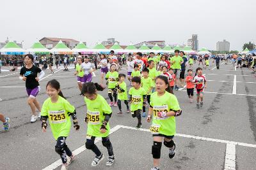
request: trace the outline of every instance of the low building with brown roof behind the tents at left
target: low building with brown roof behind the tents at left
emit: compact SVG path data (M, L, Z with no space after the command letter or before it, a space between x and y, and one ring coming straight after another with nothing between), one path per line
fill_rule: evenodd
M75 48L75 46L79 43L79 41L76 41L75 39L70 38L49 38L44 37L40 39L40 43L44 45L48 49L52 49L54 46L58 44L59 41L62 41L65 45L67 45L68 48L72 49Z

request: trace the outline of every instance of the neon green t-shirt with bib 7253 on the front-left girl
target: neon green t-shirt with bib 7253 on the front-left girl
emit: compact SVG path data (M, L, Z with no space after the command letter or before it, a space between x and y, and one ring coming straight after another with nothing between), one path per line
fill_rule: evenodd
M60 136L68 136L71 121L67 113L73 113L74 110L74 106L61 96L58 97L56 103L51 102L51 97L44 101L41 115L49 117L49 124L51 125L52 135L55 140Z

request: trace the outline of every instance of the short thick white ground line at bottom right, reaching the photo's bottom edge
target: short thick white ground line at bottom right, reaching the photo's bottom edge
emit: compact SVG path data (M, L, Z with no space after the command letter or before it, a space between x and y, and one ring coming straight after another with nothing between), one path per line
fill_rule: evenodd
M226 169L236 170L236 145L227 143L226 155L225 155L225 167Z

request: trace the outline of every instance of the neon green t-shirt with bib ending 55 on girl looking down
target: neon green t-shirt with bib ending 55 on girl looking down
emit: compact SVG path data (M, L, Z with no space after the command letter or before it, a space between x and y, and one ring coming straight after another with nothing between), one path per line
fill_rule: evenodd
M86 117L88 118L86 138L91 138L92 136L104 138L108 136L110 131L109 123L106 125L107 131L104 134L100 133L102 121L105 119L104 115L112 113L107 101L99 94L97 94L96 99L93 101L86 97L84 97L84 101L87 106Z

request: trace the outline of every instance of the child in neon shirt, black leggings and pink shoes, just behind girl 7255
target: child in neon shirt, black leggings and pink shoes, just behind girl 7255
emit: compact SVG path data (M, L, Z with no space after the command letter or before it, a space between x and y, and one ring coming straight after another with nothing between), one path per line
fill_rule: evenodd
M118 73L116 72L116 64L111 64L110 71L106 74L106 80L108 85L108 97L110 99L109 106L117 106L117 94L116 94L116 82L118 81ZM113 97L115 99L115 103L113 104Z

